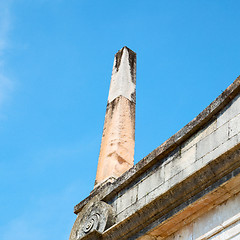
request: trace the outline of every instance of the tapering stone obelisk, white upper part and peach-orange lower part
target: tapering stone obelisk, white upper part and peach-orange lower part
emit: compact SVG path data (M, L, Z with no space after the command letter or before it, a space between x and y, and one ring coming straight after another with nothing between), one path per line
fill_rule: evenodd
M136 53L115 55L95 185L133 166L135 146Z

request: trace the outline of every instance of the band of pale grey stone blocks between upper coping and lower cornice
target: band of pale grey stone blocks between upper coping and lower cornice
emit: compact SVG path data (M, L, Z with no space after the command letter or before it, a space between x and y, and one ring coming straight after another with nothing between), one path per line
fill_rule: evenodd
M115 196L111 205L116 210L117 222L126 219L239 143L240 95L207 126Z

